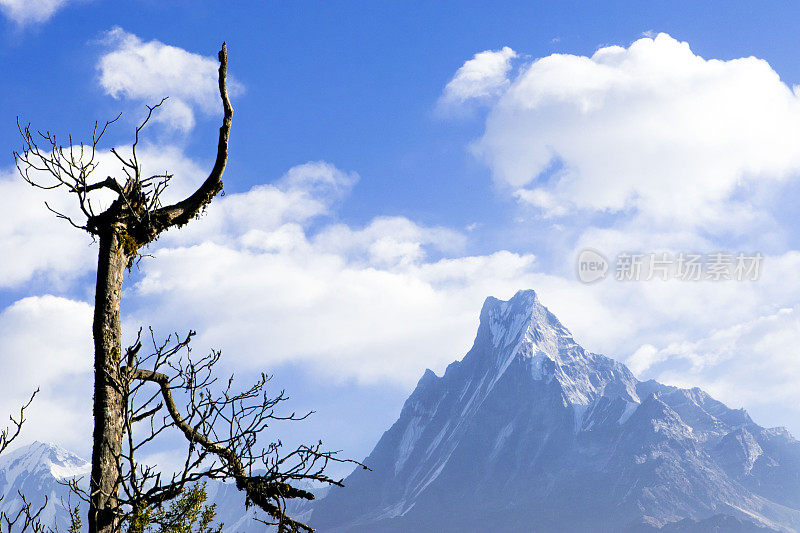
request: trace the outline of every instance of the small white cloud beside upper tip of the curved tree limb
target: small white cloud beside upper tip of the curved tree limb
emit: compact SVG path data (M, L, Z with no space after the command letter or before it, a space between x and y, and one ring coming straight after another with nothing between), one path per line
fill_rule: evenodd
M110 50L100 58L97 70L106 94L149 105L168 96L154 120L181 131L194 127L197 111L212 115L221 109L215 57L157 40L145 42L119 27L106 33L104 43ZM232 95L242 91L230 74L228 90Z

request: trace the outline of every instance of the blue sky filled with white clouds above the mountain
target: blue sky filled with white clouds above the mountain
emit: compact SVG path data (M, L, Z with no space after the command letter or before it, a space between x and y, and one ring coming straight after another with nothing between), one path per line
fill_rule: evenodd
M14 177L15 119L80 137L122 111L109 148L170 96L147 149L188 190L213 157L203 73L223 40L239 87L227 196L131 274L128 330L198 329L226 370L275 372L319 412L292 438L362 457L424 369L469 348L484 297L534 288L588 349L800 433L795 3L0 9L0 361L18 382L0 406L49 387L31 439L88 453L95 252ZM196 80L169 78L192 65ZM587 246L767 258L757 283L589 286L573 273ZM39 366L20 362L31 335Z

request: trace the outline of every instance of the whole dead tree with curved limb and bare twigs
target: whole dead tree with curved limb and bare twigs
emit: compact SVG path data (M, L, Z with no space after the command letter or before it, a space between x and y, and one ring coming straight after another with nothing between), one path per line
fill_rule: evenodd
M287 474L287 462L274 463L274 469L266 475L252 475L250 467L257 459L266 455L254 452L254 433L265 427L262 422L255 426L239 426L242 417L256 413L256 419L270 412L271 404L264 396L264 402L251 410L251 407L238 407L242 402L254 399L261 394L265 381L244 396L224 393L221 398L211 399L203 396L203 385L198 381L198 371L210 370L218 354L204 360L198 367L177 366L176 372L168 376L160 371L170 355L166 345L159 349L156 345L152 362L154 367L143 368L137 362L138 348L134 347L123 354L122 331L120 325L120 299L123 275L130 269L140 250L156 240L170 228L180 228L198 217L211 200L222 190L222 175L228 159L228 137L231 129L233 109L226 89L227 52L225 44L219 52L219 93L222 100L223 118L219 129L216 160L208 177L200 187L187 198L172 204L162 205L161 195L167 188L172 175L168 173L145 176L137 156L137 146L142 129L151 115L163 103L148 106L148 114L136 128L130 157L116 150L111 152L122 165L124 176L121 179L106 177L98 179L94 175L99 161L98 146L107 128L117 119L99 126L95 123L91 143L75 145L72 139L64 146L55 135L49 132L32 132L29 126L20 126L23 149L16 153L17 168L28 183L42 189L64 189L74 195L80 215L73 216L59 212L47 205L56 216L83 231L90 233L99 242L97 262L97 286L95 292L94 321L94 435L92 450L92 469L90 478L89 532L112 533L120 530L122 518L132 507L158 504L177 496L187 482L200 477L232 478L237 487L247 494L247 500L264 509L271 516L290 529L311 530L308 526L292 521L276 506L275 502L293 497L311 497L310 494L294 489L292 480L305 479L305 474ZM44 176L44 177L43 177ZM114 200L102 211L92 204L95 193L110 191ZM178 343L179 349L188 347L188 339ZM138 345L137 345L138 346ZM166 350L166 351L165 351ZM173 352L175 355L177 352ZM132 355L131 355L132 354ZM187 470L168 483L163 483L152 470L137 470L130 441L127 452L123 451L126 437L130 438L132 426L156 412L137 410L129 404L132 397L139 394L144 384L157 387L159 402L166 408L167 418L162 419L162 429L177 429L189 443ZM181 412L175 403L176 390L188 394L188 411ZM133 396L132 396L133 395ZM195 396L199 395L199 396ZM224 420L220 409L233 409L230 421L231 433L220 437L217 422ZM243 411L241 409L244 409ZM263 410L259 410L263 409ZM147 415L147 416L145 416ZM144 417L144 418L142 418ZM267 417L269 418L269 417ZM150 438L160 434L153 430ZM272 450L274 452L274 450ZM126 455L127 453L127 455ZM300 459L306 464L311 459L331 458L322 454L318 448L300 448L287 461ZM123 459L125 461L123 461ZM129 463L123 466L123 463ZM213 466L208 466L213 464ZM302 468L301 468L302 470ZM138 473L137 473L138 472ZM306 472L308 474L309 472ZM313 478L313 476L311 476ZM319 478L319 476L318 476ZM332 481L320 478L322 481ZM124 487L124 495L120 488ZM276 499L277 497L277 499Z

